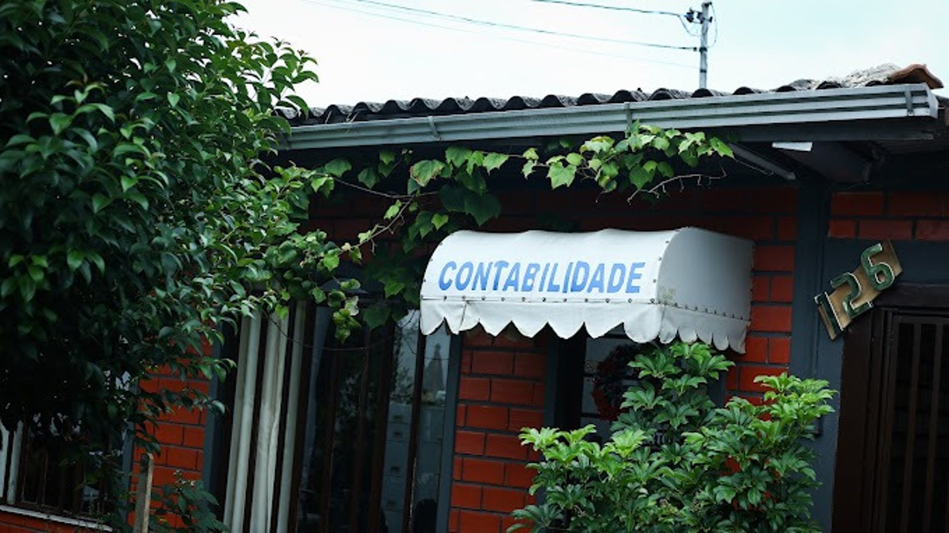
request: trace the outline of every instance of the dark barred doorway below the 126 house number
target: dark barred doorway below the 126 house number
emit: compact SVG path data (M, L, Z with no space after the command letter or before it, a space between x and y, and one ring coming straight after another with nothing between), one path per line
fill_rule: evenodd
M836 531L949 526L949 287L894 286L845 336Z

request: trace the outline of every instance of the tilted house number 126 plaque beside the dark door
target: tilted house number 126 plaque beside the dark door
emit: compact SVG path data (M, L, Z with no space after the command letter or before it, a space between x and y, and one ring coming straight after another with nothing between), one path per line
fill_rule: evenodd
M860 267L830 280L829 295L814 296L830 338L842 333L850 321L873 307L873 299L893 284L902 272L900 260L887 241L868 247L860 255Z

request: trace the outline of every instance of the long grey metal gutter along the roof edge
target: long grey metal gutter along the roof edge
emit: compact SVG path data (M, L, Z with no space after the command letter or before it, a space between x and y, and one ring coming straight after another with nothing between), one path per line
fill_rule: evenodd
M712 129L936 119L938 116L936 95L928 86L866 86L299 125L291 128L283 148L306 150L613 134L623 133L634 121L664 128Z

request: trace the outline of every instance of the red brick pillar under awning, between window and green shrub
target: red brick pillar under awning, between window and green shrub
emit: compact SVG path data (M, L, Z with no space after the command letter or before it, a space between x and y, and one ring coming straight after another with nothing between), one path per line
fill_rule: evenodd
M462 335L450 531L504 531L512 510L533 503L526 465L536 457L517 435L543 424L546 340Z

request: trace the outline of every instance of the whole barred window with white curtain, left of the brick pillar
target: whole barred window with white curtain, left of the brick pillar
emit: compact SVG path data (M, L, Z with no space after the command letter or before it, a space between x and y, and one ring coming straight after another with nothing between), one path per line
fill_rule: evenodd
M326 308L245 319L224 351L238 367L214 453L226 458L224 522L434 531L450 344L441 331L419 335L418 312L344 343Z

